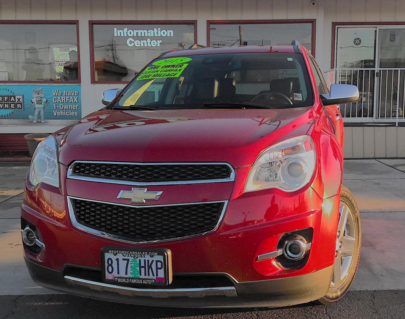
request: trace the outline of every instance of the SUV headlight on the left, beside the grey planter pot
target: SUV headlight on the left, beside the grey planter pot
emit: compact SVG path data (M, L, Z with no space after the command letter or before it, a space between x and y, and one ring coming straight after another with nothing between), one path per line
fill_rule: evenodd
M53 135L38 144L32 156L28 179L34 186L44 182L59 187L58 147Z

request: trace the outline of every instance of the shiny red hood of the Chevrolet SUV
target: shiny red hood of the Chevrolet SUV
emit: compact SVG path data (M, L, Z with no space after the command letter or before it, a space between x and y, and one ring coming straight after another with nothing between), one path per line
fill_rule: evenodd
M252 165L275 142L307 133L313 108L94 112L55 133L59 161Z

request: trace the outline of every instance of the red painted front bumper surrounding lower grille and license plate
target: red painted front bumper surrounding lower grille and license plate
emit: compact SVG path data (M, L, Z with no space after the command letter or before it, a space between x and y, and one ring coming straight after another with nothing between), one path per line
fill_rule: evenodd
M40 240L46 245L46 251L37 255L30 254L26 249L26 258L58 271L64 264L101 268L100 250L105 246L170 249L173 273L220 272L231 275L238 282L306 275L331 266L334 261L339 197L322 200L311 188L299 194L277 190L246 193L230 199L222 224L212 233L188 239L136 244L103 238L75 228L68 215L66 194L46 184L35 189L30 189L28 182L26 186L21 217L38 228ZM171 187L166 187L168 192L175 194ZM195 187L198 190L201 186ZM213 184L208 190L214 189L216 195L225 187ZM84 185L80 189L88 192ZM194 194L191 190L189 192ZM95 190L92 197L110 196L110 193L117 192ZM225 197L223 194L219 196ZM83 194L83 198L89 197L90 194ZM204 200L219 199L212 195ZM113 202L113 199L106 201ZM191 202L194 198L184 201ZM277 249L282 234L306 228L313 230L313 238L304 266L283 269L273 259L257 261L259 255Z

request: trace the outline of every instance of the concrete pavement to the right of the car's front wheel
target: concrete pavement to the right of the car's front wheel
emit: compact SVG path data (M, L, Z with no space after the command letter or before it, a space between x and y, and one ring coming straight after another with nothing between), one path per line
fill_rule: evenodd
M347 160L343 183L362 218L362 252L352 289L405 289L405 160Z

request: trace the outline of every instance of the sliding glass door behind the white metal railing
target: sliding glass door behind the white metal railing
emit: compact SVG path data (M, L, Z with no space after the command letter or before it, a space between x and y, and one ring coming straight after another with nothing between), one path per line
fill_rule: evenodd
M339 27L336 82L359 89L346 119L405 120L405 26Z

